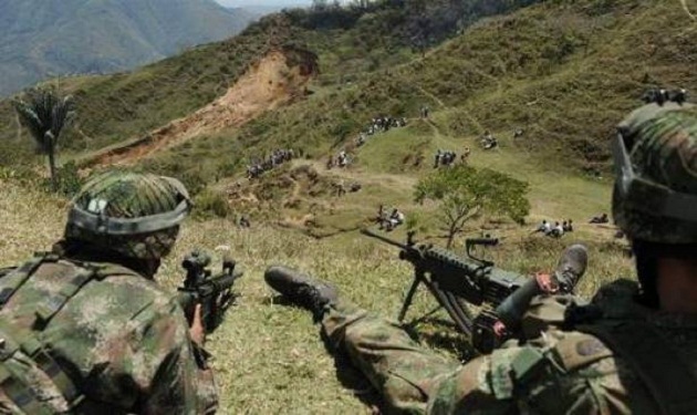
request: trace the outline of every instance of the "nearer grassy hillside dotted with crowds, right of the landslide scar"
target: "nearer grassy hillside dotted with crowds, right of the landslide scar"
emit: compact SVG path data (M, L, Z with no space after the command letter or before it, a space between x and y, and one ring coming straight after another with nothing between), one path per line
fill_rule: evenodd
M356 229L379 204L417 212L434 232L434 211L413 203L413 185L431 170L436 149L460 153L469 146L475 166L530 183L531 220L584 221L608 210L608 181L601 177L608 174L607 141L614 125L641 103L646 87L697 87L690 70L697 50L688 41L697 25L679 3L599 4L544 3L482 21L425 58L378 68L354 82L320 79L305 101L240 128L200 136L142 165L196 189L215 181L214 195L229 198L233 211L272 218L318 237ZM642 20L665 24L637 23ZM322 56L326 62L326 54L321 62ZM424 104L433 110L428 121L417 117ZM409 125L354 148L358 132L377 114L405 115ZM514 139L519 127L526 133ZM486 129L499 136L498 151L478 149ZM260 183L237 178L250 158L288 147L306 159L294 166L310 164L316 179L292 168ZM341 148L352 153L354 165L326 172L324 160ZM579 176L579 169L589 175ZM364 186L360 196L332 196L332 184L353 181ZM471 229L480 226L487 224L472 224ZM608 229L604 237L611 234Z

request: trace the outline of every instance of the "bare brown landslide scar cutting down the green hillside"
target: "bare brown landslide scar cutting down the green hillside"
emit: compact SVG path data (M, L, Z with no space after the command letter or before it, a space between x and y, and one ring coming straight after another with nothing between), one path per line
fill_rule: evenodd
M240 126L266 111L303 96L305 85L314 75L313 68L314 62L291 66L283 51L272 51L253 64L215 102L155 129L145 137L110 148L85 164L133 164L202 134Z

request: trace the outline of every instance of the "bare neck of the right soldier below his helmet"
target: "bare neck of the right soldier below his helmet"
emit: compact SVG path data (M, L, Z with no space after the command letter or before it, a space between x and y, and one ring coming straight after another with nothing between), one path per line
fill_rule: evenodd
M673 258L658 260L658 298L660 310L697 314L697 267Z

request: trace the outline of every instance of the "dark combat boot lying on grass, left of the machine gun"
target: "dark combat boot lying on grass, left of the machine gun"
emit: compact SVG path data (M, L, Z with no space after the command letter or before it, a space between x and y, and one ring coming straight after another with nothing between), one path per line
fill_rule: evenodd
M313 279L292 268L269 267L263 274L267 284L280 292L293 304L321 315L326 304L336 301L336 288L329 282Z

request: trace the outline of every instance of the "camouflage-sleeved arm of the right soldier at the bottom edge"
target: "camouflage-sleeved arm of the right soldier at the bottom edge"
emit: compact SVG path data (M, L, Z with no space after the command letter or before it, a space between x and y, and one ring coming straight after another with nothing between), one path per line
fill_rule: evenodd
M497 350L448 374L430 396L428 413L631 413L603 343L582 333L550 336L556 338Z

